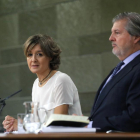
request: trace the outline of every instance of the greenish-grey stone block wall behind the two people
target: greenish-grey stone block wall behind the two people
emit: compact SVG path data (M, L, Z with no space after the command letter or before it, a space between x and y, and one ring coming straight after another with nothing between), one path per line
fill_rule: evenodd
M22 89L6 101L0 115L16 117L31 100L36 75L27 67L22 45L33 34L52 36L62 49L60 71L79 90L84 115L89 115L104 77L119 62L108 41L112 18L123 11L140 13L139 0L0 0L0 97Z

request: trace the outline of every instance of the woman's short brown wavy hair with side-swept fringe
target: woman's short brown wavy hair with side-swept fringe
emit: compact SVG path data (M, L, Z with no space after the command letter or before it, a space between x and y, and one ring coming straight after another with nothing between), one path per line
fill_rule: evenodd
M50 57L50 69L56 70L60 65L60 53L61 50L53 39L48 35L36 34L30 36L24 43L24 54L27 57L28 52L31 51L35 45L39 44L41 50L47 57Z

